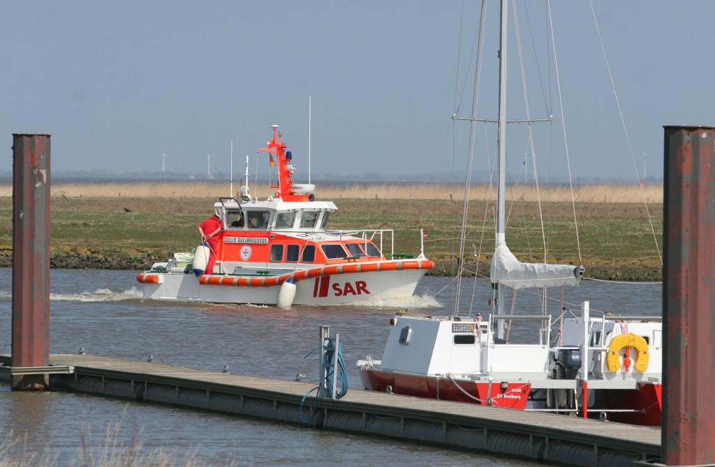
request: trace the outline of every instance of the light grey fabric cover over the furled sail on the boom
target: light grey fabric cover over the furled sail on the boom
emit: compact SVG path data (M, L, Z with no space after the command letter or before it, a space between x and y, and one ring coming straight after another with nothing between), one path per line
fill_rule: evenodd
M506 243L501 243L494 252L490 273L492 282L499 282L514 289L556 287L578 285L583 277L583 266L521 262Z

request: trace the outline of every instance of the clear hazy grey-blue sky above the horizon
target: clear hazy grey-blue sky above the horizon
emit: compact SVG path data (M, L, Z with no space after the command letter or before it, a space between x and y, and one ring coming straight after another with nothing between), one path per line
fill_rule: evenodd
M509 118L526 118L526 82L528 114L553 120L533 124L536 159L528 125L509 125L513 177L533 179L534 160L542 181L663 177L664 125L715 125L715 1L599 0L594 21L588 1L553 0L555 46L543 2L516 4ZM498 107L497 10L490 1L482 119ZM476 1L5 2L0 172L12 170L12 134L37 133L51 134L52 173L164 164L237 180L246 156L250 177L268 170L256 149L279 124L296 181L309 166L312 182L460 180L470 124L452 116L470 116L478 24ZM475 170L490 167L494 127L475 126Z

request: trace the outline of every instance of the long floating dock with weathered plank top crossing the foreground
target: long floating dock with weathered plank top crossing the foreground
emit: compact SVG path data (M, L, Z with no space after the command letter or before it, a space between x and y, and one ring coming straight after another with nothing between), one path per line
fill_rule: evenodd
M73 373L50 376L54 390L387 436L550 465L649 465L661 457L660 428L355 389L338 400L316 401L315 390L310 393L315 385L309 383L94 355L58 354L50 361L74 368ZM9 362L0 355L0 363Z

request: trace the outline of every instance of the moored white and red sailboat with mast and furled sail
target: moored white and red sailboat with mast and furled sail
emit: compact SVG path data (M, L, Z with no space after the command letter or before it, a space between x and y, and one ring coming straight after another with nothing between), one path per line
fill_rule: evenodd
M506 243L507 18L502 1L492 313L460 316L458 303L448 316L398 313L382 358L358 361L361 382L383 393L659 426L660 318L591 315L588 302L556 318L507 306L507 290L516 298L516 290L578 286L584 274L581 265L521 262Z

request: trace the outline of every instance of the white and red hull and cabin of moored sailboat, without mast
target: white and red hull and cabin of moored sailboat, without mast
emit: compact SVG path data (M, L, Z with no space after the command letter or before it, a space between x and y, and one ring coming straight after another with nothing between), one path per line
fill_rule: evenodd
M495 337L506 320L513 342ZM488 321L398 315L390 320L383 358L358 361L360 380L383 393L658 426L661 323L631 317L626 332L614 321L593 318L584 326L583 318L565 318L569 345L551 346L548 315L490 315ZM591 340L582 360L583 343ZM611 360L616 368L608 367Z

